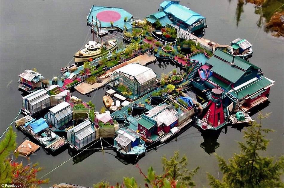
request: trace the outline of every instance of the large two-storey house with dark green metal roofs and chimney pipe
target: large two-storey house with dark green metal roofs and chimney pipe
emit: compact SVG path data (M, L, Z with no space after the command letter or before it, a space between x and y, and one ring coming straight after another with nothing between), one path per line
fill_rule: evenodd
M193 85L204 83L207 88L221 88L222 98L228 97L243 111L268 100L270 87L274 81L263 76L256 65L231 54L216 50L214 55L199 68L205 72L201 82L193 80ZM208 95L209 96L209 95Z

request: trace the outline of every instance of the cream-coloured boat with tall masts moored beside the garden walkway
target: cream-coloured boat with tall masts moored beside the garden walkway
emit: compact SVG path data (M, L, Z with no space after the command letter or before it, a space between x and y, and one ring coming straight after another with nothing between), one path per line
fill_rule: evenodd
M92 28L94 29L94 22ZM102 32L101 27L97 27L97 30L99 30L99 28L100 32ZM106 42L103 42L103 39L101 39L101 43L99 43L97 39L96 41L94 40L94 32L93 32L93 40L89 41L85 45L84 49L77 51L74 54L74 59L76 63L90 61L90 59L97 59L103 55L108 54L109 52L114 51L116 48L117 48L117 39L111 39Z

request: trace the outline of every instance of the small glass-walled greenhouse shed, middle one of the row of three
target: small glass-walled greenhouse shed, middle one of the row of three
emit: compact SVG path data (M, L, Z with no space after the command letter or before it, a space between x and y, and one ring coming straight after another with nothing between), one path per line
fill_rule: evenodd
M73 111L69 103L63 101L58 105L49 109L46 114L48 118L48 123L52 124L57 129L64 126L66 123L72 120Z

